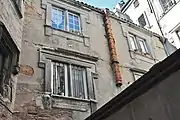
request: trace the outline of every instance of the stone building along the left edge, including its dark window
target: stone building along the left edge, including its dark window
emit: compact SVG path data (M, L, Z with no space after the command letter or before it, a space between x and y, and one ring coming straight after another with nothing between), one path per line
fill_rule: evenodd
M11 120L23 28L23 4L0 0L0 119Z

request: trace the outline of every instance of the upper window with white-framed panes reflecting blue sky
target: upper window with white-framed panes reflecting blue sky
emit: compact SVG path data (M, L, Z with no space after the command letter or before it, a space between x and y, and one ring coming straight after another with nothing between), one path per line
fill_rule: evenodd
M52 8L52 27L69 32L80 33L80 17L77 14L62 10L56 7Z

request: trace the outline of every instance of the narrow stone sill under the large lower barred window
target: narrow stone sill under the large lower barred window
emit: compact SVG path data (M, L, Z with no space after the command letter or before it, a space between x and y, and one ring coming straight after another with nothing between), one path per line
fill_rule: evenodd
M52 95L52 97L68 99L68 100L75 100L75 101L81 101L81 102L94 102L94 103L97 103L97 101L93 100L93 99L81 99L81 98L67 97L67 96L61 96L61 95Z

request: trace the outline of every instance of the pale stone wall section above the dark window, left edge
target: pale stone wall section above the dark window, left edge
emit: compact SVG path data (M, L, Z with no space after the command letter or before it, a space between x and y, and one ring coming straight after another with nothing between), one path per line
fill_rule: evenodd
M23 4L22 7L23 8ZM23 14L23 11L21 11ZM0 21L8 29L19 50L21 49L23 19L19 17L11 0L0 0Z

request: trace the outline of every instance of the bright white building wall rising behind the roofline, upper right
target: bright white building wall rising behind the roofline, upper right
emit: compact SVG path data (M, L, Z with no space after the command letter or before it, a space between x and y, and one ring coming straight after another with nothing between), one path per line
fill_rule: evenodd
M135 1L139 2L137 7L134 6ZM179 0L167 1L172 1L173 3L167 10L163 10L159 0L130 0L125 7L120 8L119 4L117 4L114 12L119 9L122 13L129 15L132 21L138 25L140 25L138 18L144 14L147 23L147 25L144 26L145 28L166 37L172 45L180 48L180 37L178 34L180 31L180 19L176 15L176 12L179 11L180 8ZM157 22L159 22L159 25Z

